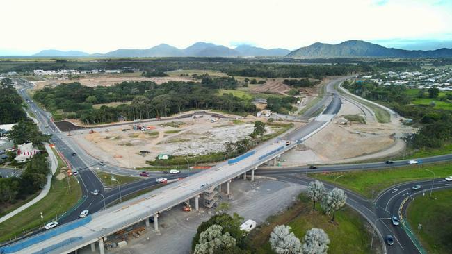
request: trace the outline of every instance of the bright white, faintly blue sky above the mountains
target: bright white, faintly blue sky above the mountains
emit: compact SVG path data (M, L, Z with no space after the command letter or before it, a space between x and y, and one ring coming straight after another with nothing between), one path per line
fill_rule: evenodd
M452 47L452 0L1 0L0 56L195 42L298 49L366 40Z

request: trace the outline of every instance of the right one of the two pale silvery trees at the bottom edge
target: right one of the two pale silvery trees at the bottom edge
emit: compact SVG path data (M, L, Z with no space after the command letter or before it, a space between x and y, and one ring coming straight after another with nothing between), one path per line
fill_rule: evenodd
M303 238L303 254L326 254L330 238L321 228L311 228Z

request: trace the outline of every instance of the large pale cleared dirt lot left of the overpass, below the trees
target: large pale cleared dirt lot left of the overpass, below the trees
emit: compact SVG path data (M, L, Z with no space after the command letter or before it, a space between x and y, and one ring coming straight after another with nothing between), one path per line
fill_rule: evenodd
M112 126L108 132L100 129L92 134L79 130L72 133L72 138L99 160L122 167L145 167L147 160L154 160L159 154L205 155L223 151L225 143L242 139L254 128L254 118L235 123L231 119L218 119L212 123L209 117L154 122L145 125L153 128L147 131L133 130L131 125ZM123 128L130 130L122 131ZM267 126L266 130L266 134L275 132L273 127Z

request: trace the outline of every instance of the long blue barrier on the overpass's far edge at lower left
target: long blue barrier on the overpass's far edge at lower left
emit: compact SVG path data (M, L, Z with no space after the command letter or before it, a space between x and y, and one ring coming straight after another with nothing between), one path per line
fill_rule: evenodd
M67 223L63 226L57 226L56 228L49 230L47 232L43 232L38 235L33 235L32 237L23 239L19 242L15 242L13 244L10 244L8 246L4 246L0 248L1 254L7 254L7 253L15 253L17 251L21 251L24 248L27 248L33 244L38 244L38 242L45 241L51 237L54 237L56 235L63 234L64 232L73 230L74 228L78 228L79 226L83 226L91 221L91 215L88 215L88 217L85 217L83 219L78 219L76 221L72 221L71 223Z

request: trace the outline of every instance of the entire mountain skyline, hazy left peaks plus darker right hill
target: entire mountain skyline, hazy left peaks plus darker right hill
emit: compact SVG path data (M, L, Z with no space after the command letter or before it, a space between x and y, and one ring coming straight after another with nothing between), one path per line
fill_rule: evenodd
M160 44L150 49L118 49L108 53L89 54L81 51L43 50L33 56L50 57L163 57L163 56L278 56L286 58L443 58L452 57L452 49L405 50L394 49L364 42L348 40L339 44L316 42L294 51L288 49L263 49L256 46L240 45L235 49L206 42L196 42L186 49L178 49L168 44Z

